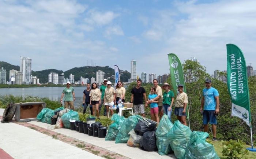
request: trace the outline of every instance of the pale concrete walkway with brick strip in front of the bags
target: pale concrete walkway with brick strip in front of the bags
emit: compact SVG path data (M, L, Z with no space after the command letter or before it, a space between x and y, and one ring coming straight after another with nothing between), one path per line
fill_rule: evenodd
M3 109L0 109L0 115ZM27 123L0 124L0 148L17 159L60 157L76 158L150 158L170 159L174 154L161 156L127 144L116 144L87 134L61 128L51 130L50 124L31 121ZM58 139L58 140L56 140ZM96 155L94 155L96 154ZM97 156L98 155L98 156Z

